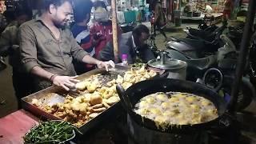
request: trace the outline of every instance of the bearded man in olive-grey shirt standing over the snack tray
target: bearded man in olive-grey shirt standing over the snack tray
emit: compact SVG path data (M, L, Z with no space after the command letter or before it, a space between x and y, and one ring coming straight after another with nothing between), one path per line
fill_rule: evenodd
M80 62L97 65L98 68L114 66L114 62L102 62L90 57L65 28L73 12L70 0L44 0L42 15L24 23L19 30L22 64L34 75L34 91L51 84L70 90L78 82L72 64Z

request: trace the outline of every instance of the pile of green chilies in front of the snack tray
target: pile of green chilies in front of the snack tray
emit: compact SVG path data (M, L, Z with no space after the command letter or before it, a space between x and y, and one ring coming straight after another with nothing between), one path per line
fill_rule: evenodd
M81 132L69 122L40 122L24 137L25 143L61 143L74 137L74 130Z

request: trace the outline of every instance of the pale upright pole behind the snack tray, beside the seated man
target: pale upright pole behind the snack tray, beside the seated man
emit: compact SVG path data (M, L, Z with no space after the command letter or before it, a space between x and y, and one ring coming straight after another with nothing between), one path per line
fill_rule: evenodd
M114 61L118 62L118 22L117 22L116 0L111 0L111 7L112 7Z

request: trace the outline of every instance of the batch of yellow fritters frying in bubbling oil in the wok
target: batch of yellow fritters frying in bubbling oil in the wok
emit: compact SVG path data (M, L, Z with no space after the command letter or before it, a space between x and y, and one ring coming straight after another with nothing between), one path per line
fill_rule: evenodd
M134 111L162 127L194 125L218 118L216 107L208 99L180 92L147 95L136 104Z

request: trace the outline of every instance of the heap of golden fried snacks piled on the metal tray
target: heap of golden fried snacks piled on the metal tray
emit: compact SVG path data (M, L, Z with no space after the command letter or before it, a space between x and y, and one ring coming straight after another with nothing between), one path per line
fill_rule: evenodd
M76 84L78 94L75 97L72 93L67 94L64 102L54 105L45 105L40 99L34 98L32 104L47 113L71 122L74 126L80 127L119 101L116 91L118 83L127 89L134 83L152 78L155 75L154 71L146 70L145 67L139 70L131 68L126 71L123 77L118 75L118 78L104 84L101 82L101 74L95 74ZM54 95L54 93L48 95Z

